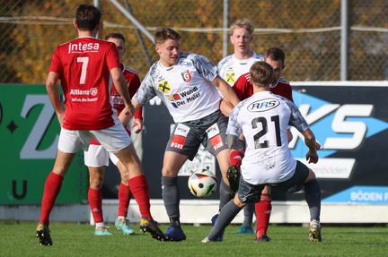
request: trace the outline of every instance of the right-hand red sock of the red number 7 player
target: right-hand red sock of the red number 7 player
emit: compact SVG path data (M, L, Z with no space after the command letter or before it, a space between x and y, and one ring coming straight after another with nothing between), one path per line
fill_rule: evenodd
M129 190L137 201L142 217L154 220L151 216L148 183L144 175L135 176L128 180Z

